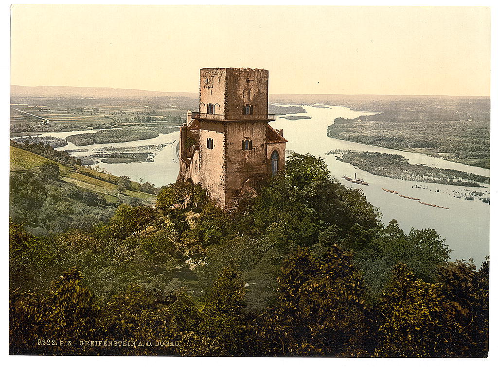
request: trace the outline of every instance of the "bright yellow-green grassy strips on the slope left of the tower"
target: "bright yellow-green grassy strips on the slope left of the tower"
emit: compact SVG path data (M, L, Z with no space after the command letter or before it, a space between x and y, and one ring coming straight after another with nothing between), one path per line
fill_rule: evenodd
M10 170L36 170L42 163L53 162L50 159L44 158L37 154L10 147ZM73 172L69 167L58 164L61 172L62 179L67 182L76 184L79 187L86 188L92 191L101 192L106 194L106 198L109 201L115 201L112 197L118 196L118 186L113 183L108 183L106 181L98 180L93 177L85 176L82 173L91 172L92 175L101 177L102 179L116 179L116 176L103 174L89 170L85 167L77 167L76 171ZM80 173L81 172L81 173ZM131 183L133 189L138 189L138 183ZM125 194L131 197L137 197L139 199L146 200L150 203L155 201L155 195L151 195L145 192L126 190Z

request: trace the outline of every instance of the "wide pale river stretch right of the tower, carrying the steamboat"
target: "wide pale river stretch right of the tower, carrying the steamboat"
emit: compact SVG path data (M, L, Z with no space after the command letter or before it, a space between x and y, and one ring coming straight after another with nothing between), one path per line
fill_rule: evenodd
M485 193L484 196L489 197L489 187L469 188L436 183L415 183L374 176L326 153L335 149L345 149L399 154L407 158L411 164L425 164L488 177L490 170L449 162L423 154L330 138L327 136L327 127L334 122L336 117L356 118L374 113L353 111L347 107L337 106L307 105L303 107L306 109L306 113L293 113L292 115L307 115L311 116L311 119L291 121L277 118L275 122L270 123L272 127L284 130L284 137L288 140L286 145L288 150L293 150L296 153L309 152L315 156L323 157L335 178L349 187L361 189L369 202L380 209L384 224L388 224L391 219L396 219L405 232L410 231L412 227L416 229L433 228L442 238L446 238L446 243L453 250L453 260L473 258L478 267L481 265L485 257L489 255L490 206L478 198L465 200L454 196L457 196L456 192L481 191ZM342 179L343 176L354 177L355 173L357 177L362 178L369 185L360 186ZM420 188L414 187L415 185ZM416 200L383 191L382 187L399 191L406 196L420 198L424 202L447 207L449 210L422 205Z

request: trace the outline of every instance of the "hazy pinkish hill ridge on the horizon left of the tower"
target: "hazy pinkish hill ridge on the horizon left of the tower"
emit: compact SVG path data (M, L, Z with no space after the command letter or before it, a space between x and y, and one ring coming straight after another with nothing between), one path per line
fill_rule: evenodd
M154 97L154 96L171 96L171 97L189 97L198 98L199 93L190 92L157 92L143 91L138 89L119 89L119 88L92 88L92 87L24 87L10 86L10 94L16 96L88 96L88 97Z

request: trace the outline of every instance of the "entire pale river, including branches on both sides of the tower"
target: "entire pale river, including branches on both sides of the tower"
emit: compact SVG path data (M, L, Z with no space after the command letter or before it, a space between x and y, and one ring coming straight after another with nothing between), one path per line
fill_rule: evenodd
M368 200L380 209L384 224L388 224L391 219L396 219L405 232L409 232L412 227L417 229L433 228L442 238L446 238L446 243L453 250L453 260L473 258L476 265L480 266L485 257L489 255L490 206L477 197L475 200L465 200L463 197L467 196L467 194L470 195L470 191L481 191L484 196L489 197L489 185L484 188L470 188L436 183L415 183L379 177L359 170L348 163L338 161L334 155L327 155L326 153L335 149L390 153L402 155L412 164L425 164L483 176L489 176L489 170L449 162L423 154L329 138L327 136L327 127L333 123L336 117L356 118L361 115L374 114L374 112L354 111L347 107L325 105L303 105L303 107L307 112L292 113L292 115L310 116L311 119L287 120L277 116L276 121L270 123L272 127L284 130L284 136L288 140L287 150L302 154L309 152L315 156L323 157L332 176L349 187L362 190ZM65 138L75 133L81 133L81 131L45 133L42 136L50 135ZM178 174L177 141L178 132L174 132L160 134L153 139L126 143L92 144L84 147L75 147L72 143L69 143L69 145L57 149L86 149L87 151L85 152L73 152L72 155L88 156L96 152L105 152L106 147L131 148L149 144L169 143L162 150L155 152L153 162L98 164L101 169L104 168L113 175L129 176L133 181L142 179L144 182L148 181L154 183L156 187L160 187L176 180ZM370 184L368 186L357 185L342 179L343 176L354 177L355 173L357 177ZM422 205L416 200L402 198L397 194L383 191L382 187L399 191L407 196L420 198L428 203L447 207L449 210ZM462 198L455 196L462 196Z

